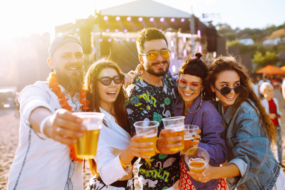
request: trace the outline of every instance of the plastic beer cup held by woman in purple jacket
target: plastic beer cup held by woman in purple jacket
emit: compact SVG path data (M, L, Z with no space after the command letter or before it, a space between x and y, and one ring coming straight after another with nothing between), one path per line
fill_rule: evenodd
M182 154L185 154L188 149L191 148L191 145L194 145L192 139L193 135L198 135L199 127L196 125L184 125L184 148L181 150Z

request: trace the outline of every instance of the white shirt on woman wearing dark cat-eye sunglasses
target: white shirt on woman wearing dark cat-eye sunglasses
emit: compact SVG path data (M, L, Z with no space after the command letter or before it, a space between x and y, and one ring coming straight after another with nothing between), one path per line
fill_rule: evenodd
M110 185L127 175L132 169L124 169L119 160L120 153L129 146L132 137L115 122L112 115L102 108L100 111L105 114L104 120L108 127L102 124L94 160L102 181Z

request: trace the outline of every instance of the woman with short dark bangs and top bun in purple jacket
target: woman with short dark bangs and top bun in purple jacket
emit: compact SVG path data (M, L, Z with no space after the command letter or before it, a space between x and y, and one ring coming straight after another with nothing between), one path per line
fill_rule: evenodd
M195 58L187 59L181 66L177 79L177 98L174 104L174 116L185 116L185 124L196 125L200 134L192 139L192 147L201 147L209 153L212 166L219 166L227 160L227 147L224 141L224 126L222 118L215 108L214 101L203 91L204 81L208 74L206 64L200 59L200 53ZM198 140L200 139L200 141ZM225 179L215 179L201 183L194 180L186 171L183 155L180 158L180 189L226 189Z

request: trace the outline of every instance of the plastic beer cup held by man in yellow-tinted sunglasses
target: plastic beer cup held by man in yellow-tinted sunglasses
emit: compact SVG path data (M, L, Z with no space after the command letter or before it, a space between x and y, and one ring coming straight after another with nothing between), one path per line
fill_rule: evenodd
M182 150L184 148L184 116L178 116L178 117L166 117L162 119L163 125L165 129L174 129L175 133L167 134L168 137L174 137L174 136L180 136L182 137L181 141L174 141L170 142L169 144L175 144L178 142L182 143L182 146L177 148L171 148L170 150L176 151L176 150Z

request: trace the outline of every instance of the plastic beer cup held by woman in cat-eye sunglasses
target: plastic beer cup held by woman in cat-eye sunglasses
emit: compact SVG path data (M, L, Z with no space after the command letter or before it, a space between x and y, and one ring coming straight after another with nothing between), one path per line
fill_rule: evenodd
M143 139L138 140L138 142L153 143L153 145L145 147L145 148L153 148L153 150L141 153L144 156L155 155L158 125L159 123L157 121L138 121L134 123L135 132L137 133L137 135L143 136Z

